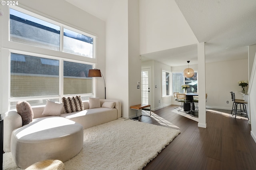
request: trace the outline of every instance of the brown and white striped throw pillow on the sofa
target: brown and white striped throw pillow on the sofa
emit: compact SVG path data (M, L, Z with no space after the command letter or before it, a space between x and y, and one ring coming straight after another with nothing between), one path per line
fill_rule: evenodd
M62 97L64 113L72 113L84 110L84 104L81 96Z

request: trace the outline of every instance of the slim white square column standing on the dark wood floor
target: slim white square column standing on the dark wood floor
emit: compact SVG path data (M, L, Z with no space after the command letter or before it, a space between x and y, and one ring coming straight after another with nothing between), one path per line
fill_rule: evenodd
M198 127L206 128L206 103L205 103L205 44L197 45L198 55Z

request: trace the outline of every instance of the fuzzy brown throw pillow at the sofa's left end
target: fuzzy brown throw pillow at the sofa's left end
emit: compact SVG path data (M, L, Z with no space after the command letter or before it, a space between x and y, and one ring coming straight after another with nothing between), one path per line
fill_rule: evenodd
M34 113L31 105L27 101L19 101L16 104L16 110L18 114L21 116L22 125L27 125L32 122L34 118Z

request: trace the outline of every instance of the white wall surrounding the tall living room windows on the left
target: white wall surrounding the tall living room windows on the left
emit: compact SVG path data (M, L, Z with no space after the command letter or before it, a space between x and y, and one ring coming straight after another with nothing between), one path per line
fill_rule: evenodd
M32 1L32 0L22 0L19 1L20 7L30 10L36 14L50 18L67 26L76 28L78 30L87 32L96 36L96 59L89 59L87 57L81 57L77 55L62 53L60 51L52 51L48 49L41 49L38 47L28 46L20 43L8 42L8 6L1 6L1 10L4 10L4 16L0 17L0 49L2 48L15 48L19 50L24 50L33 53L44 53L47 55L63 57L63 58L73 58L80 61L87 61L92 63L98 63L96 67L102 71L105 76L105 22L88 14L87 12L77 8L66 1L63 0L44 0L44 1ZM3 83L0 91L0 96L2 97L1 111L6 111L6 103L8 100L8 78L6 79L4 75L8 72L8 56L0 53L0 63L1 63L1 75L0 79ZM4 62L2 62L4 61ZM8 76L7 76L8 77ZM107 77L106 77L107 78ZM103 79L98 79L98 97L104 98L104 82Z

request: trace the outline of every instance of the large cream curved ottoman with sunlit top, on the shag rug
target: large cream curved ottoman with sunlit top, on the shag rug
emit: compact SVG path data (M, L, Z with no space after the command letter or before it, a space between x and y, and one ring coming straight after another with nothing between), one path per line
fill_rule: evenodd
M83 126L63 117L42 117L12 132L11 152L20 168L47 159L71 159L83 147Z

